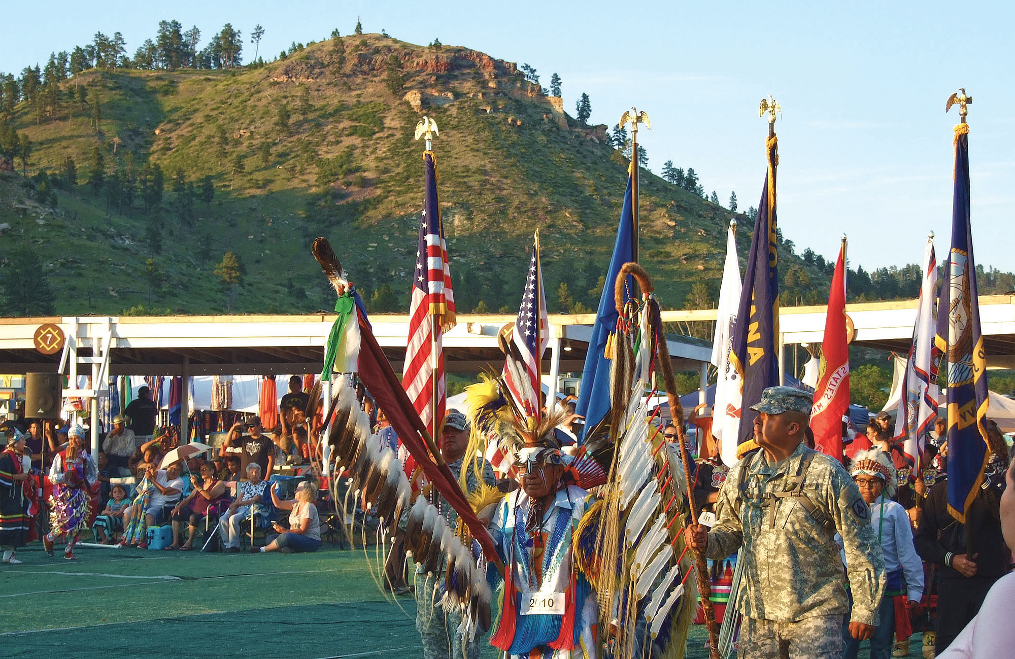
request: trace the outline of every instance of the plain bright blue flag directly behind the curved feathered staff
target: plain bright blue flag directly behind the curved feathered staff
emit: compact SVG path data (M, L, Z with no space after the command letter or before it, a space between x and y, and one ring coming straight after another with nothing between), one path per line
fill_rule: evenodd
M595 427L610 411L610 360L606 357L606 342L617 326L617 309L613 300L613 287L624 264L634 261L634 217L631 212L631 179L627 178L624 207L620 212L620 226L613 245L610 268L606 271L606 284L599 297L596 324L589 340L589 353L582 370L582 386L574 411L585 417L585 433ZM628 277L627 290L633 292L633 282Z

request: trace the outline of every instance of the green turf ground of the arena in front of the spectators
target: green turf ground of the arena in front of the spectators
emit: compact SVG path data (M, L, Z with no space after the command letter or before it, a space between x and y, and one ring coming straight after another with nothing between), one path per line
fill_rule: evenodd
M386 598L362 550L77 554L51 559L33 543L17 553L23 565L0 566L0 657L422 656L415 601ZM705 638L693 629L688 659L705 659Z

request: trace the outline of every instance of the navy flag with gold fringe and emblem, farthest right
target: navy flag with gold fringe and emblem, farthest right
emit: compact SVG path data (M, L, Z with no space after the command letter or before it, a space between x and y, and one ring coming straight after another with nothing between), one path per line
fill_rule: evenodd
M969 125L955 127L952 242L941 282L938 333L941 384L948 409L948 512L965 511L984 480L987 452L987 355L979 331L976 266L969 224Z

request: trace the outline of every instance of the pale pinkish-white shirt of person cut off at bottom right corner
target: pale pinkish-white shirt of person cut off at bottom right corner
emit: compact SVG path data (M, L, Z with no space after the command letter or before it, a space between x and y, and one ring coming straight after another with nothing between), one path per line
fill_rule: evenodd
M991 586L979 612L952 641L938 659L995 659L1010 657L1015 648L1015 625L1011 624L1015 602L1015 574L1006 574Z

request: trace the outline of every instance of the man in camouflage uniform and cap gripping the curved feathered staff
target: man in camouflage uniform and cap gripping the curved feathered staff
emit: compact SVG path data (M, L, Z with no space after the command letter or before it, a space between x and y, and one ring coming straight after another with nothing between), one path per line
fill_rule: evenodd
M751 410L761 450L730 469L716 525L690 525L687 542L713 559L743 545L741 658L838 659L850 600L836 531L849 565L854 638L873 634L884 590L870 511L837 460L803 445L810 394L768 387Z

